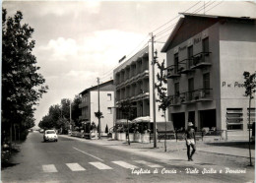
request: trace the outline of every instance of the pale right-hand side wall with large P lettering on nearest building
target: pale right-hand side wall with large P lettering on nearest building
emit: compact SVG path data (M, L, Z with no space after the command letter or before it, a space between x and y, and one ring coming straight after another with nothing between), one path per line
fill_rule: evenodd
M245 89L243 72L256 71L256 42L221 40L221 106L222 128L225 129L226 108L243 108L243 130L247 130L248 97ZM255 107L255 100L252 101Z

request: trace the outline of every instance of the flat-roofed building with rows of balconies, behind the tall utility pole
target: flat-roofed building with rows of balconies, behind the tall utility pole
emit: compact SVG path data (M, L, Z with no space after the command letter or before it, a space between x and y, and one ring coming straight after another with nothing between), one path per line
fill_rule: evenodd
M165 59L165 54L160 53L162 44L155 44L155 50L159 50L158 60ZM134 107L134 117L150 116L153 121L153 76L152 76L152 52L151 46L148 45L142 50L138 51L131 58L123 61L113 71L115 84L115 106L116 118L126 118L119 110L118 105L128 100ZM157 75L158 68L155 66L155 73ZM155 79L156 79L155 75ZM157 82L157 79L156 79ZM157 91L156 91L157 95ZM158 102L156 104L156 121L164 121L159 111Z

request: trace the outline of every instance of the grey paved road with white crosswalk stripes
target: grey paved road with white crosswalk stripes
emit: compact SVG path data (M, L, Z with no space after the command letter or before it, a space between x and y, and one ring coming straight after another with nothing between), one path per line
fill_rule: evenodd
M33 132L13 159L16 165L2 170L3 182L248 182L253 173L220 173L216 164L160 161L133 152L98 146L92 142L59 137L57 143L43 143ZM204 168L217 174L202 174ZM199 173L187 173L186 168ZM154 171L158 169L158 173ZM164 171L165 170L165 171ZM240 168L244 170L244 168ZM246 170L248 171L248 170ZM137 173L140 173L137 175ZM149 173L150 172L150 173ZM176 173L174 173L176 172Z

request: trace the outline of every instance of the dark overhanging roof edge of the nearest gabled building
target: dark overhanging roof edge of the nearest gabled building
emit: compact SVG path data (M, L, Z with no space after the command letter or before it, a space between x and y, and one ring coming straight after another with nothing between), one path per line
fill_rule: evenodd
M204 15L204 14L190 14L190 13L180 13L184 17L180 18L174 27L174 29L171 31L169 37L167 38L165 44L161 48L161 52L166 52L175 37L175 35L178 33L178 30L181 28L182 24L184 23L184 20L186 18L203 18L203 19L212 19L215 20L215 22L220 22L221 20L239 20L246 23L256 23L256 18L250 18L250 17L227 17L227 16L217 16L217 15Z

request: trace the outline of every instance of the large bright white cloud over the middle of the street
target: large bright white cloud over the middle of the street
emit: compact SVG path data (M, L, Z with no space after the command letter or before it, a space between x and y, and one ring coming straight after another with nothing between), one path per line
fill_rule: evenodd
M143 34L135 32L101 30L85 35L79 40L64 37L51 39L46 45L40 46L36 52L40 52L39 54L47 52L46 60L51 63L51 66L54 62L64 65L65 62L72 61L72 65L80 70L99 69L97 71L101 72L100 68L112 68L117 65L118 60L133 50L143 37ZM67 67L72 69L70 65Z

